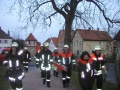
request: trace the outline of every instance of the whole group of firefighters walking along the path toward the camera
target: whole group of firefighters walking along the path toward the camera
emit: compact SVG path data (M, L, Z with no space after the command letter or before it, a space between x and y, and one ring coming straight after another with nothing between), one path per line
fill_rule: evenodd
M50 87L51 68L53 75L58 77L58 71L62 71L63 88L69 87L72 74L72 66L76 64L75 57L67 44L63 47L63 52L58 52L55 48L53 52L49 49L49 43L44 43L42 49L35 54L36 67L40 67L43 84ZM95 46L94 52L90 55L87 51L82 52L78 58L78 77L83 90L92 90L96 78L97 90L102 90L102 71L105 70L105 62L100 46ZM30 52L27 47L18 51L18 44L13 42L11 50L6 55L4 64L7 64L6 76L8 77L12 90L23 90L22 79L25 77L24 70L28 72L28 63L31 61Z

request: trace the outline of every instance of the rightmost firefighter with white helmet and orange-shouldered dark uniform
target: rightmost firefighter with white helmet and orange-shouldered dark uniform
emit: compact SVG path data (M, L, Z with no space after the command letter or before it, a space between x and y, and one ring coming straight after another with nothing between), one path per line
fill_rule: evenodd
M91 54L93 63L95 65L94 75L97 80L96 82L97 90L102 90L102 84L103 84L102 70L106 71L105 61L103 58L103 54L101 53L100 46L95 46L94 50L95 51Z

